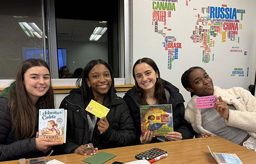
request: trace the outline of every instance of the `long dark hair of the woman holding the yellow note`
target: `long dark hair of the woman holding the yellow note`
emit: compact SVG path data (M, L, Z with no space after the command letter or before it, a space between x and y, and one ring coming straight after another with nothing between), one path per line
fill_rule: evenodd
M83 98L83 100L85 102L85 106L87 106L90 103L91 99L94 99L94 96L93 96L93 93L92 93L92 89L87 84L86 79L89 79L89 72L90 72L91 68L93 66L95 66L95 65L98 65L98 64L103 64L104 66L106 66L109 69L110 76L111 76L111 81L112 81L110 89L107 92L107 94L105 95L104 100L106 98L110 98L109 101L110 101L110 105L111 105L112 104L112 100L113 100L113 96L115 95L114 76L113 76L112 68L110 67L110 65L108 63L106 63L105 61L103 61L101 59L92 60L91 62L89 62L85 66L82 75L76 81L76 86L78 88L80 88L80 90L81 90L82 98Z

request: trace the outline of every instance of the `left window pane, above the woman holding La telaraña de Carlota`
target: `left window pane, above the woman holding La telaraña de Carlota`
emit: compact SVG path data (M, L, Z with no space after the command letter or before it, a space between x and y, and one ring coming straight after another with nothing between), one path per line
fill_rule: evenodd
M0 20L0 79L13 79L23 60L44 59L41 0L1 0Z

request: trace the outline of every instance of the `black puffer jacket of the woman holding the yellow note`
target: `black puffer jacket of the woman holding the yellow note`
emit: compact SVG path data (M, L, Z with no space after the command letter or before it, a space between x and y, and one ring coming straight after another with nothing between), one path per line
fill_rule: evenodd
M104 106L110 108L105 99ZM63 153L73 153L81 145L88 144L89 124L79 89L73 89L70 95L64 98L59 108L68 110L67 138L63 144ZM106 116L109 121L108 130L100 134L96 125L92 135L92 144L95 148L116 148L132 145L135 142L136 132L128 107L122 98L115 95L110 112Z

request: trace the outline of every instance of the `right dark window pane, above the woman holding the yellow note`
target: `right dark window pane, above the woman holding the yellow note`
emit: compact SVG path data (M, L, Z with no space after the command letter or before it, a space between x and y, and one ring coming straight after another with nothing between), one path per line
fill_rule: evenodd
M83 1L55 0L57 48L67 49L66 78L73 78L75 69L84 68L93 59L108 62L114 78L124 77L120 65L124 63L121 61L124 49L120 49L119 42L124 44L120 39L124 34L120 33L123 25L119 6L120 0L90 0L85 5ZM76 10L69 12L71 8ZM59 78L63 78L65 75L59 71Z

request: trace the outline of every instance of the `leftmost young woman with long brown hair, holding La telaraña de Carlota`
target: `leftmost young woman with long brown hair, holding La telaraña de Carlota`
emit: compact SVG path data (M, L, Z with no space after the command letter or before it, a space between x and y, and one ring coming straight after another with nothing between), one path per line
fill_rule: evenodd
M38 109L49 108L55 105L47 63L23 61L15 82L0 93L0 161L45 156L61 144L38 138Z

